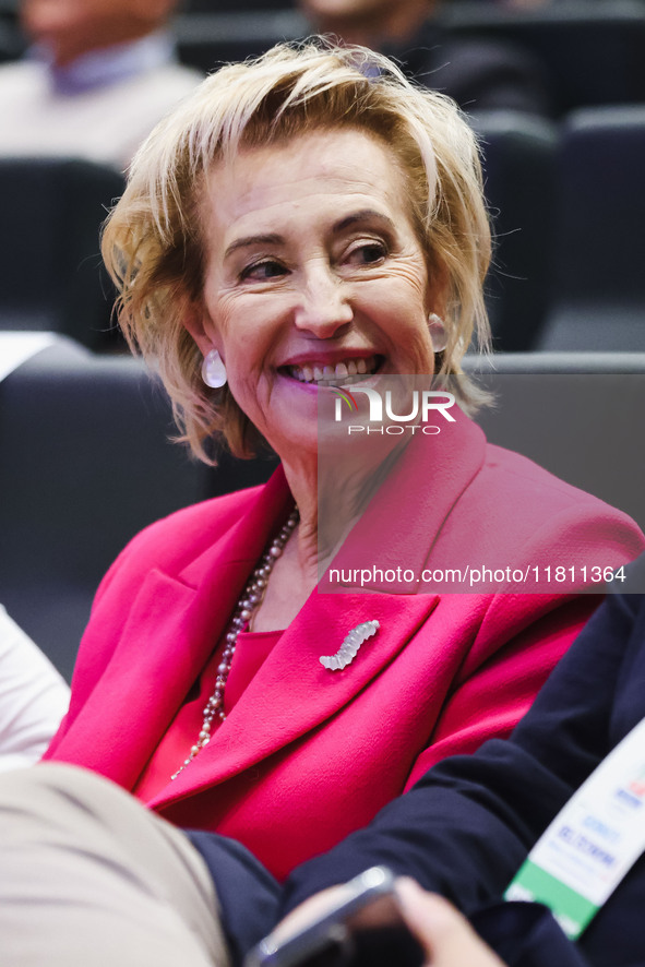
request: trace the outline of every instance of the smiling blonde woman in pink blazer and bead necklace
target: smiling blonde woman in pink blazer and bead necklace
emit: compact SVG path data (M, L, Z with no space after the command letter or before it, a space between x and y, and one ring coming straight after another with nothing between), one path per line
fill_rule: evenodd
M427 387L459 372L474 326L486 337L473 134L385 59L367 77L363 55L279 47L227 67L133 163L104 238L121 322L195 453L263 440L282 466L126 549L48 753L240 840L278 878L432 762L510 731L596 604L512 581L438 594L433 575L459 556L528 575L643 547L624 515L488 446L456 404L408 446L393 422L362 434L374 447L334 437L335 487L319 493L318 402L335 414L338 387L407 374ZM406 413L408 391L392 392ZM320 541L319 503L341 520ZM374 577L367 594L345 566L316 593L319 568L356 562L363 536L377 563L403 565L401 593ZM351 664L321 664L337 653Z

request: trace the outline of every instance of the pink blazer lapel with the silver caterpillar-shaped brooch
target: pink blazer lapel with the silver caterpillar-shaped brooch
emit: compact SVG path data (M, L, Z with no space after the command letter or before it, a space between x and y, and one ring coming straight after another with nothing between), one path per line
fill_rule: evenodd
M150 804L167 807L223 783L320 726L405 648L437 601L433 595L314 592L211 742ZM349 666L334 672L321 665L321 655L335 654L353 628L373 619L379 631Z

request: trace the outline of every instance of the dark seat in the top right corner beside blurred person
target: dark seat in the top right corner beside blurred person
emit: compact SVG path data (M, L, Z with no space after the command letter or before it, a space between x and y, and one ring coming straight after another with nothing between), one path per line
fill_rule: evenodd
M645 100L643 0L558 0L535 10L481 0L442 7L447 29L512 41L537 57L560 117L587 105Z

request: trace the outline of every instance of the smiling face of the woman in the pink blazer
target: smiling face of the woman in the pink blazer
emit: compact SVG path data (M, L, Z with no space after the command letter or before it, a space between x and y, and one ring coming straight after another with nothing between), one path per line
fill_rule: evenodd
M203 315L238 405L288 461L316 447L316 402L381 373L431 373L428 277L396 159L354 129L241 152L207 179Z

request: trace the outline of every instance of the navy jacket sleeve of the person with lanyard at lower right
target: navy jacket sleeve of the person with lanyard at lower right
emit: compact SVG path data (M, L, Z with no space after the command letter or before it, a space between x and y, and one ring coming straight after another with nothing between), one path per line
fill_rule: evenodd
M501 902L551 820L645 716L645 597L630 593L644 586L641 557L624 592L607 597L510 740L444 760L366 829L297 868L282 911L384 863L450 898L507 964L645 964L644 857L575 944L545 907Z

